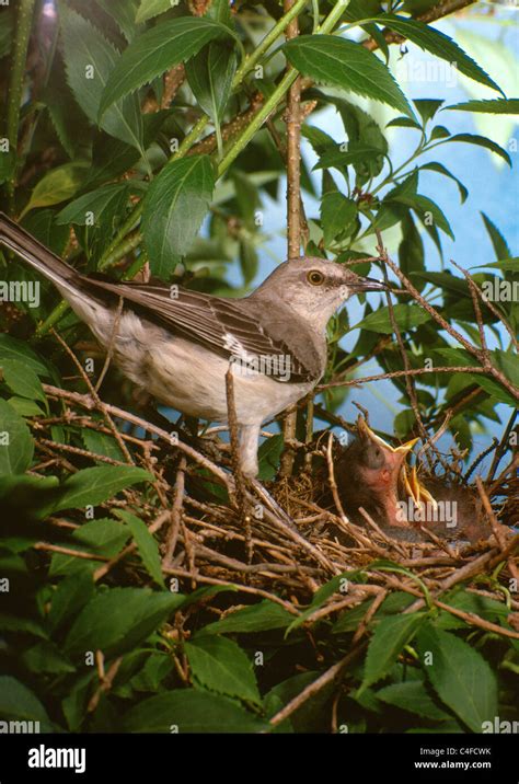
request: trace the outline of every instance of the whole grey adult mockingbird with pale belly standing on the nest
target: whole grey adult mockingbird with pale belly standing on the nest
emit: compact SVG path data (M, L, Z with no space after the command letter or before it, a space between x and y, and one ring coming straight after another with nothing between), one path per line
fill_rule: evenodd
M249 297L81 275L0 214L0 242L51 280L123 372L162 403L227 422L232 368L242 470L257 474L262 423L312 390L326 364L326 323L348 297L382 290L341 264L280 264ZM123 300L123 309L119 303Z

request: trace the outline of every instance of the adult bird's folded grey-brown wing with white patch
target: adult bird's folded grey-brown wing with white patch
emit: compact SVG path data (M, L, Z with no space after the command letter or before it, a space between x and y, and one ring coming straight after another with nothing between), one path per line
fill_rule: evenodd
M247 312L246 300L149 284L112 284L92 278L88 283L123 297L170 332L276 381L316 381L321 374L313 362L304 362L282 338L269 335L260 319Z

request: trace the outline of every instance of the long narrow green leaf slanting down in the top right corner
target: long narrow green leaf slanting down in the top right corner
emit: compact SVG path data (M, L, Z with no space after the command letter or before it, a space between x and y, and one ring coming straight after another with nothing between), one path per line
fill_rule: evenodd
M390 30L405 36L408 41L412 41L413 44L419 46L420 49L430 51L431 55L447 60L447 62L458 68L458 70L464 73L465 77L469 77L469 79L485 84L492 90L497 90L497 92L503 92L495 81L491 79L488 73L486 73L472 57L469 57L452 38L449 38L448 35L441 33L439 30L430 27L418 20L393 16L392 14L384 14L381 20Z

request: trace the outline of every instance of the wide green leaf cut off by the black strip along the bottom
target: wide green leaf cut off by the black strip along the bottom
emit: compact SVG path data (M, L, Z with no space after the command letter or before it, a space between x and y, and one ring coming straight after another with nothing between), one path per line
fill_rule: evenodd
M158 694L131 707L126 733L262 733L269 725L219 694L182 689Z

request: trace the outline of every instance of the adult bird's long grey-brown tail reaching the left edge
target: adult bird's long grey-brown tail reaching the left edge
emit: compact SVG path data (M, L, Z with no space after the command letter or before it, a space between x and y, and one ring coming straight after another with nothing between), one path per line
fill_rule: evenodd
M0 244L14 251L58 287L79 288L80 274L3 212L0 212Z

